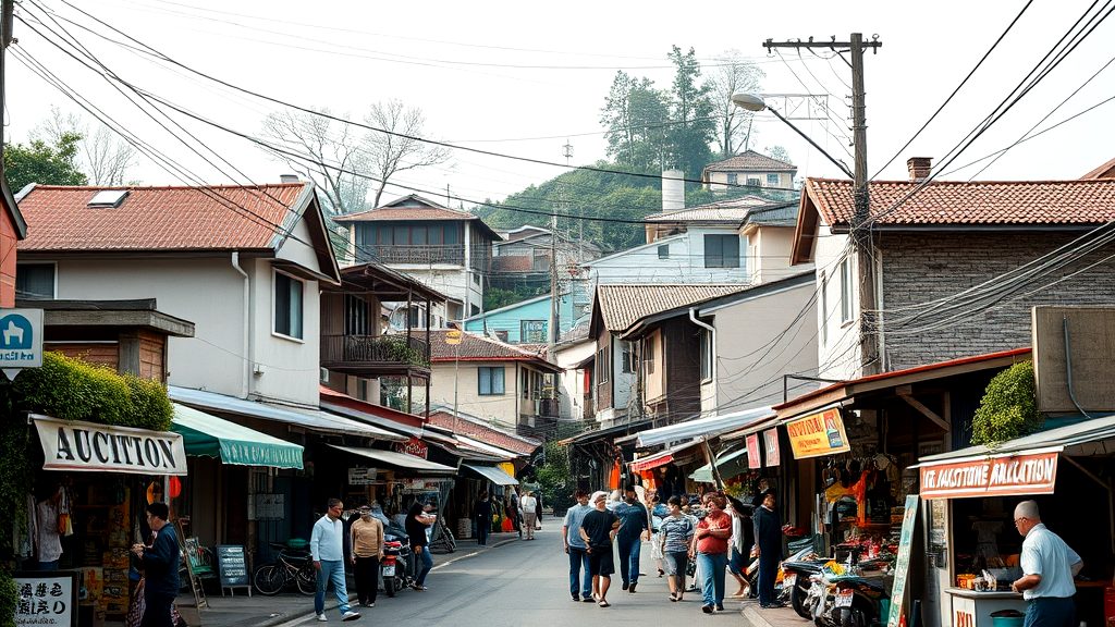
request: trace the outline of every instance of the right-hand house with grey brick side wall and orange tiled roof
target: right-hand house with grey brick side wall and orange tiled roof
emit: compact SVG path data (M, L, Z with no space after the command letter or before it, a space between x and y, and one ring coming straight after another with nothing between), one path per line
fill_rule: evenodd
M1096 229L1115 220L1115 179L932 181L915 191L930 165L911 158L909 181L871 182L878 293L867 305L850 245L852 182L806 179L793 262L816 268L820 376L1027 346L1031 307L1111 302L1115 262ZM879 317L866 330L864 309ZM878 361L865 363L866 343Z

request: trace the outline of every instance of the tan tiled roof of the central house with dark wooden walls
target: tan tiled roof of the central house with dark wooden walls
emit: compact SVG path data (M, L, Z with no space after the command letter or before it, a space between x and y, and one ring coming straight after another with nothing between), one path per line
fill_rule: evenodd
M609 331L626 331L642 318L746 290L747 283L620 284L597 287L597 305Z

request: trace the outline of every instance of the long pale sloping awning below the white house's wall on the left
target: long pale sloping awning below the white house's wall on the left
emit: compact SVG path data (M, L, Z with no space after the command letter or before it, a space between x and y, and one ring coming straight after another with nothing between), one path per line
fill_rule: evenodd
M389 442L406 442L409 440L409 437L398 433L317 409L279 407L266 403L236 398L235 396L173 385L168 386L166 392L172 401L211 412L224 412L264 421L275 421L320 433L359 435Z

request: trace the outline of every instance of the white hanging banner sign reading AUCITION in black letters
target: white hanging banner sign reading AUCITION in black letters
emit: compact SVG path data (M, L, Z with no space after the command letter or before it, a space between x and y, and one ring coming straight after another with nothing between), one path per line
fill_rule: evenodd
M177 433L32 417L43 470L186 474L186 450Z

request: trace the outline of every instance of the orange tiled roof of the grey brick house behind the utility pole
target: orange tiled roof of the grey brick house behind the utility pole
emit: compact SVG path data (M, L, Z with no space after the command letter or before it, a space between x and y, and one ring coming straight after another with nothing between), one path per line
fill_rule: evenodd
M871 214L882 214L875 223L1099 224L1115 220L1115 179L933 181L885 213L918 185L911 181L872 182ZM804 190L828 225L851 223L851 181L806 179Z

